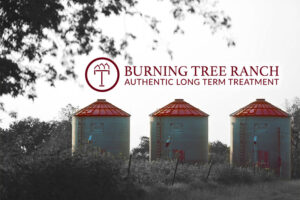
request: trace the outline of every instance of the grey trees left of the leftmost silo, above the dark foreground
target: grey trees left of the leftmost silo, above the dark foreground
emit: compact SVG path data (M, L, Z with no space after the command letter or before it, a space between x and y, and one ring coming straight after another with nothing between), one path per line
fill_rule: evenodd
M1 163L14 163L23 156L70 154L71 133L68 121L42 122L30 117L16 121L0 130Z

